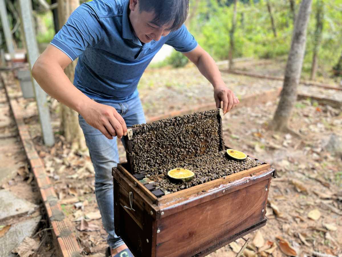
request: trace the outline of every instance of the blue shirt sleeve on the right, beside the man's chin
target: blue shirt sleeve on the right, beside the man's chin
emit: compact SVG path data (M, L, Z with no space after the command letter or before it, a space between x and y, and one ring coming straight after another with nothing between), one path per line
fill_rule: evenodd
M171 32L169 36L165 44L172 46L176 51L190 52L197 46L197 41L184 24L176 31Z

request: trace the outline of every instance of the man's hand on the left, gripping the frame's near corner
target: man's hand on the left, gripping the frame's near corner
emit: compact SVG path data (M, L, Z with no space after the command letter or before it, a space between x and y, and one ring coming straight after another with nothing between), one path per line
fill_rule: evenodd
M91 100L79 113L89 125L100 130L108 139L127 135L126 123L114 107Z

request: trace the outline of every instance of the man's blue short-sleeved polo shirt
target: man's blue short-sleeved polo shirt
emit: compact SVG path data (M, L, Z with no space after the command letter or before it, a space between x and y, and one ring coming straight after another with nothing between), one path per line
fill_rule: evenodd
M124 102L136 97L140 77L163 44L180 52L197 46L184 24L142 45L131 29L128 6L129 0L83 3L51 41L71 60L78 57L74 85L94 100Z

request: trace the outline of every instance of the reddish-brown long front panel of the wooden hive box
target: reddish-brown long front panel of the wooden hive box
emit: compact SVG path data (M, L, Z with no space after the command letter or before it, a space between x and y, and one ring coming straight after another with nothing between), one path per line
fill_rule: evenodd
M263 220L268 181L223 194L157 220L157 256L192 256ZM182 229L170 229L174 224ZM174 246L177 247L174 247Z

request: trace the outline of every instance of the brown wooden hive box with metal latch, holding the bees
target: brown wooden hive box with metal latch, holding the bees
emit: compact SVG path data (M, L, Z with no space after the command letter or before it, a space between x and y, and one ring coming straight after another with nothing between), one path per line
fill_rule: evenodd
M215 139L216 146L222 151L227 149L222 138L222 110L215 110L215 114L219 138ZM203 113L197 115L206 117ZM177 118L163 123L168 127L178 126ZM193 129L188 125L187 128ZM139 153L134 149L139 149L139 145L134 146L134 136L139 133L148 134L148 130L144 126L129 130L125 137L128 162L119 163L112 171L115 232L134 256L206 256L266 224L268 188L275 177L270 164L249 156L259 166L173 193L163 188L156 190L144 172L151 166L144 163L139 168L136 161ZM149 136L148 139L152 140ZM198 149L196 154L206 154L205 147ZM145 154L141 153L142 157L146 158ZM162 154L159 158L163 158ZM179 154L175 160L166 162L172 165L186 158ZM156 163L158 160L152 158L149 165Z

